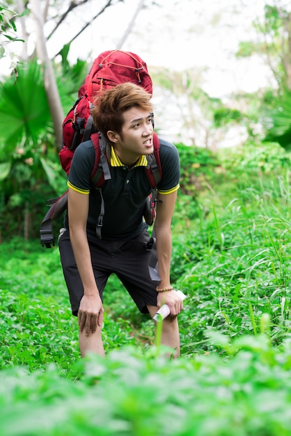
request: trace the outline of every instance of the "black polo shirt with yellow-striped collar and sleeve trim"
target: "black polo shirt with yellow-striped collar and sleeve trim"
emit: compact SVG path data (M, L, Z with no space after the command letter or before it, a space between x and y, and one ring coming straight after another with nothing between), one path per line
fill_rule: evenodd
M162 179L157 190L166 195L179 188L180 159L178 150L172 143L162 139L159 141ZM91 182L94 159L92 141L81 143L74 152L68 177L68 187L90 196L87 221L89 239L96 237L96 224L101 207L100 192ZM111 149L111 180L104 182L101 188L104 199L102 238L131 239L147 227L143 219L143 207L151 189L145 169L147 164L147 157L141 156L135 166L129 169L120 161L114 149ZM68 218L65 219L65 224L68 226Z

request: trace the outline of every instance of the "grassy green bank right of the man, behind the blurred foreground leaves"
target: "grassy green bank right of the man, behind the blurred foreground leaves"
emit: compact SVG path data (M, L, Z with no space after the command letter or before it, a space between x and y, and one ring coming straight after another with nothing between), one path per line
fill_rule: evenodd
M207 329L258 334L265 313L274 344L290 334L289 178L259 181L228 204L201 198L207 216L174 244L173 274L190 295L191 315L180 317L187 355L209 350Z

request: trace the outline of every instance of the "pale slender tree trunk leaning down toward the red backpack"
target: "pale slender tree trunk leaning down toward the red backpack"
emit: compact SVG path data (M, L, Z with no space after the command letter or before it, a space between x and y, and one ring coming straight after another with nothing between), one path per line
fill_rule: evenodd
M56 138L56 147L61 146L62 138L62 123L63 123L63 108L61 105L60 95L56 86L56 78L54 77L54 70L52 68L52 61L47 54L46 38L43 32L44 20L42 16L42 9L40 7L40 0L29 0L31 4L31 12L36 28L36 50L38 58L42 61L45 68L45 91L47 93L47 100L49 102L49 109L52 114L54 123L54 135Z

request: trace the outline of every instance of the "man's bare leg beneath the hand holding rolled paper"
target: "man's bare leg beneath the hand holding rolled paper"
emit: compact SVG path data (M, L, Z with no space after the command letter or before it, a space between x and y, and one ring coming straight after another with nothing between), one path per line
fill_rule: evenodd
M150 316L153 318L157 313L158 308L156 306L148 306ZM154 321L157 324L156 321ZM175 350L173 357L180 356L180 333L178 325L178 317L167 317L162 321L162 345L166 345Z

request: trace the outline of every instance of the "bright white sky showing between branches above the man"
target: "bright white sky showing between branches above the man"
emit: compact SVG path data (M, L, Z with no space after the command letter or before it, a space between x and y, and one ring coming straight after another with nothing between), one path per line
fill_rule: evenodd
M139 13L122 49L138 53L149 67L203 69L203 88L214 97L223 98L237 91L252 92L265 85L267 69L262 59L235 59L239 40L255 38L252 22L262 14L264 0L164 0L158 3L162 7L149 6ZM114 49L134 15L136 4L136 0L124 0L107 8L72 42L70 60L80 58L90 62L100 52ZM64 1L64 10L67 6ZM53 57L96 13L95 1L76 8L49 40L49 55ZM52 24L45 26L47 34ZM18 43L18 47L21 44ZM31 52L34 45L35 38L31 36ZM7 61L1 61L2 73L7 66Z

